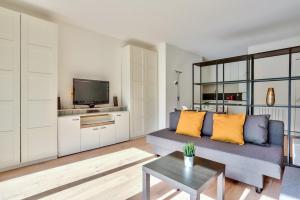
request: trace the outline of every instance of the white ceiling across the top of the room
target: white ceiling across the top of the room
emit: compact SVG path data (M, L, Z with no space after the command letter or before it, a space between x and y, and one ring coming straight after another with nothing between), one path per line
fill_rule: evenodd
M208 58L300 35L299 0L18 0L122 40L166 41Z

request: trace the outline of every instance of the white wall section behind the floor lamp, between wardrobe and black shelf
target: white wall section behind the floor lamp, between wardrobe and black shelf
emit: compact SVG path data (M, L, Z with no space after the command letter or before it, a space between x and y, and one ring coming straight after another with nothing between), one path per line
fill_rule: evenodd
M177 79L175 70L182 71L180 75L180 103L181 106L192 106L192 64L202 61L202 57L180 49L176 46L162 43L158 45L159 52L159 114L165 116L160 119L159 128L169 126L169 113L176 108L177 89L174 81ZM163 111L163 109L165 110ZM165 125L165 126L164 126Z

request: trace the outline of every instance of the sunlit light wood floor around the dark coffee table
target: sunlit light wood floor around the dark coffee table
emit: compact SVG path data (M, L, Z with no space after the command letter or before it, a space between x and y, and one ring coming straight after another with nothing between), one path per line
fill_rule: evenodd
M0 199L141 199L144 163L156 159L144 138L0 173ZM278 199L280 181L268 178L262 194L226 179L225 199ZM201 199L215 199L212 184ZM151 177L151 199L189 199Z

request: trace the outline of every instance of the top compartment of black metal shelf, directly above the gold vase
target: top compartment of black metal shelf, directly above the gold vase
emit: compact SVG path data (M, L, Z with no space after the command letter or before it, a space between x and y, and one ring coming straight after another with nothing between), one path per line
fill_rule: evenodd
M254 60L254 78L278 78L289 76L289 55Z

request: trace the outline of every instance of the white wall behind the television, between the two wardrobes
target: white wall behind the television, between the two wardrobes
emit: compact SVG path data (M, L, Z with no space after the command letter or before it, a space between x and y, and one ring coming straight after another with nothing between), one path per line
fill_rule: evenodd
M58 95L72 107L73 78L109 81L112 97L121 98L122 41L76 26L59 24Z

